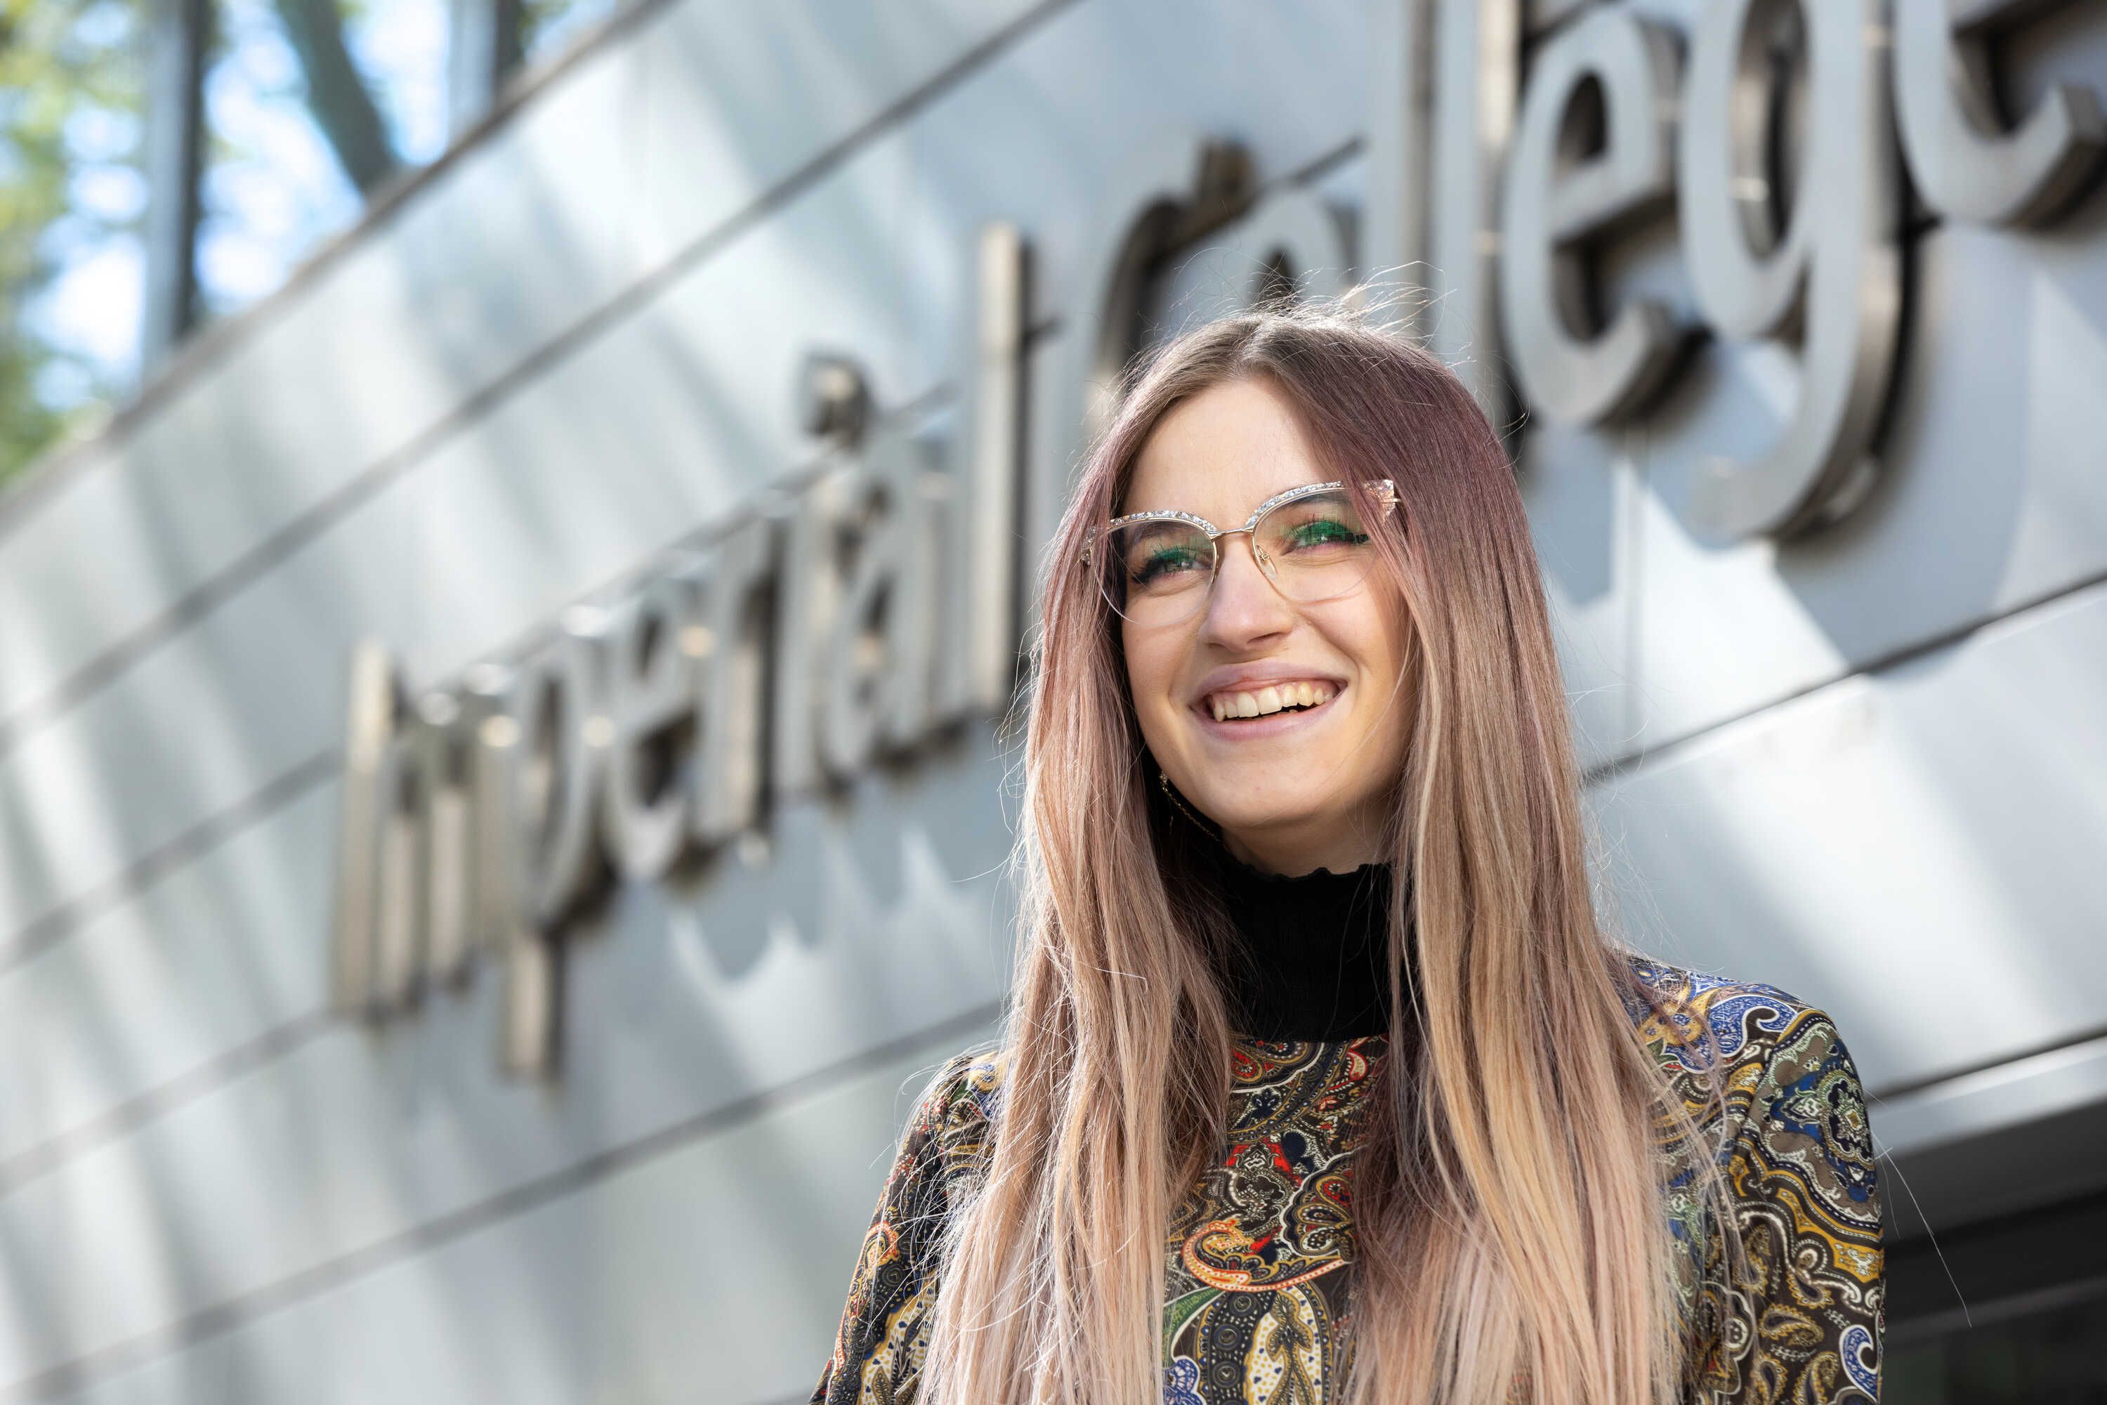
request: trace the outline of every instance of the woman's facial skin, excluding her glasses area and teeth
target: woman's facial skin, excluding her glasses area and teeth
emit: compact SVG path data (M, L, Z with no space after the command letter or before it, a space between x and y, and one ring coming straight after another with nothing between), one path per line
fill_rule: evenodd
M1243 527L1302 482L1327 482L1281 392L1262 379L1214 385L1174 407L1142 444L1119 512L1182 510ZM1346 872L1378 851L1389 792L1405 760L1412 699L1401 685L1410 621L1384 575L1298 605L1222 537L1205 605L1174 626L1121 619L1142 739L1171 786L1222 826L1237 857L1268 872ZM1212 699L1268 685L1330 687L1304 712L1216 720Z

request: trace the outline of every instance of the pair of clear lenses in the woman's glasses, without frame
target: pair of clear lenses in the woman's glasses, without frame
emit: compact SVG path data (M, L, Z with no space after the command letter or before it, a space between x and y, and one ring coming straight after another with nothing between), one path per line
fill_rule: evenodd
M1100 588L1121 617L1136 624L1178 624L1207 600L1214 543L1176 518L1123 522L1102 535ZM1289 499L1252 531L1258 565L1275 588L1300 605L1336 600L1359 590L1374 565L1370 525L1346 489Z

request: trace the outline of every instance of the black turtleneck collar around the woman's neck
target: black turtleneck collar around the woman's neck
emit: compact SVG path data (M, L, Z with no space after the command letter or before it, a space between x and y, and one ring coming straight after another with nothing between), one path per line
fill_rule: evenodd
M1389 864L1283 876L1252 868L1220 840L1205 849L1241 935L1220 973L1239 1034L1304 1041L1391 1028Z

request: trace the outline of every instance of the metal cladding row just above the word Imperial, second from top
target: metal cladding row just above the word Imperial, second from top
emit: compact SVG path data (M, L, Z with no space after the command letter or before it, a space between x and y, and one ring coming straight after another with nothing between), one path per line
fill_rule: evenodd
M0 933L320 752L337 731L329 680L352 638L394 640L417 682L445 676L638 569L653 548L733 512L761 478L790 474L811 451L794 432L786 388L815 337L860 348L883 404L933 392L942 379L910 373L946 375L952 364L971 240L990 209L1013 211L1032 230L1035 293L1054 297L1077 278L1081 230L1068 221L1079 192L1169 95L1226 126L1281 82L1317 93L1321 59L1348 48L1340 15L1330 29L1296 25L1273 51L1262 32L1243 29L1195 48L1171 19L1150 13L1136 23L1161 53L1174 42L1190 51L1180 82L1136 78L1117 103L1018 112L1016 93L1058 93L1091 55L1131 51L1121 48L1123 13L1085 6L1056 17L1022 51L946 88L906 128L874 137L767 223L546 369L531 392L491 407L327 535L0 756ZM1330 38L1319 44L1321 36ZM1359 126L1359 93L1336 88L1300 103L1292 122L1254 128L1254 158L1296 171L1344 145ZM1035 135L995 162L988 143L1016 128ZM1032 158L1041 164L1028 166ZM872 209L912 187L917 162L973 177L997 164L1001 179L946 192L936 206L942 223L872 219ZM908 234L914 246L902 249ZM925 308L938 316L908 316ZM594 466L590 497L577 493L577 463ZM147 735L156 714L204 718L194 746L158 748ZM124 765L112 765L118 756Z

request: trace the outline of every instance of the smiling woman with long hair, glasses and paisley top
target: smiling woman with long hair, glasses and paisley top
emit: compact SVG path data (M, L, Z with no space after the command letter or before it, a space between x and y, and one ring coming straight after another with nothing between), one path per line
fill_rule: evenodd
M1856 1070L1597 923L1454 375L1340 305L1178 337L1045 579L1005 1034L929 1085L813 1401L1877 1399Z

